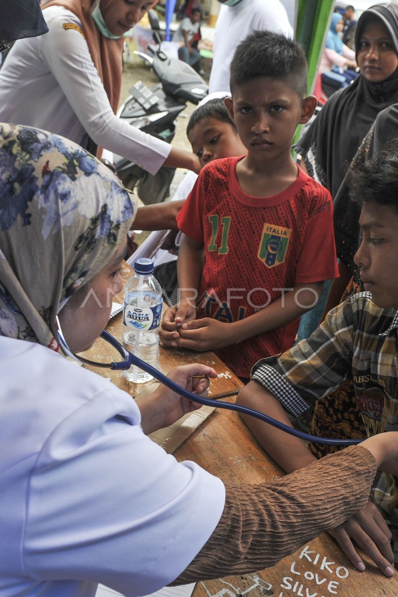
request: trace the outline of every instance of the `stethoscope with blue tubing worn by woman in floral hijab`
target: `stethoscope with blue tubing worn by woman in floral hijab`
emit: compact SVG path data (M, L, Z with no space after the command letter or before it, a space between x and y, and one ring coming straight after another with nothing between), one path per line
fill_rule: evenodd
M175 381L172 381L171 379L166 377L163 373L161 373L161 371L158 371L157 369L155 369L155 367L152 367L152 365L149 365L145 361L142 361L140 358L138 358L138 356L135 356L131 352L128 352L128 350L126 350L124 346L122 346L122 344L112 336L112 334L105 330L101 334L101 338L103 338L103 340L105 340L106 342L109 342L109 344L111 344L116 350L118 350L119 354L122 356L124 360L110 363L90 361L82 356L76 355L72 352L72 350L70 350L62 333L58 317L55 318L55 321L57 324L58 340L60 341L60 345L62 347L63 352L67 356L70 356L70 358L73 358L76 361L80 361L86 365L91 365L91 367L103 367L112 369L114 371L119 371L129 369L131 365L136 365L140 369L146 371L146 373L149 373L151 376L155 377L156 380L160 381L170 390L179 394L180 396L184 396L184 398L187 398L188 400L198 402L198 404L203 404L209 407L226 408L227 410L233 410L237 413L247 414L251 417L260 419L260 421L269 423L270 425L273 425L274 427L277 427L277 429L281 429L282 431L285 431L290 435L294 435L296 438L304 439L309 442L316 442L317 444L325 445L347 446L360 444L360 442L363 441L363 439L331 439L317 437L316 435L310 435L309 433L304 433L303 431L300 431L298 429L293 429L292 427L285 425L285 423L281 423L280 421L277 421L276 419L271 418L264 413L260 413L260 411L254 410L252 408L243 407L240 404L234 404L233 402L218 402L214 398L203 398L202 396L198 396L193 392L189 392L189 390L186 390L184 387L179 386L178 383L175 383Z

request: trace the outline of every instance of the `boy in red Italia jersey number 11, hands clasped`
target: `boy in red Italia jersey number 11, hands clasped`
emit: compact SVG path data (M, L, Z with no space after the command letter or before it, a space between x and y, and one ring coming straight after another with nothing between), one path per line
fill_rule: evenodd
M230 84L226 106L248 153L202 168L178 215L180 302L160 334L167 346L215 350L245 379L259 356L292 346L298 318L337 266L331 196L291 155L297 125L316 106L303 50L252 33L237 47Z

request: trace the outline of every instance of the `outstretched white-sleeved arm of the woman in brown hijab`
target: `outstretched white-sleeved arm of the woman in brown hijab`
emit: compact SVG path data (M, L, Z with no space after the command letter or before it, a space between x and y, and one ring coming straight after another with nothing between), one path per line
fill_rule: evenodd
M72 13L69 20L81 26ZM84 36L76 29L65 30L64 21L62 17L53 20L50 32L43 38L42 60L57 79L91 139L98 146L138 164L150 174L156 174L162 165L199 172L199 160L193 153L171 147L169 143L117 118Z

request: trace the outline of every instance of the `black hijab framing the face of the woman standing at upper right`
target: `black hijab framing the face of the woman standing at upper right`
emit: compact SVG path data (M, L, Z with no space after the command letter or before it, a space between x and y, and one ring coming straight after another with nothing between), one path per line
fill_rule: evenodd
M391 35L398 54L398 6L378 4L359 17L355 47L369 20L379 19ZM313 125L297 143L308 173L335 197L351 159L381 110L398 103L398 68L384 81L374 83L359 75L326 102Z

